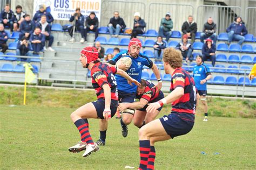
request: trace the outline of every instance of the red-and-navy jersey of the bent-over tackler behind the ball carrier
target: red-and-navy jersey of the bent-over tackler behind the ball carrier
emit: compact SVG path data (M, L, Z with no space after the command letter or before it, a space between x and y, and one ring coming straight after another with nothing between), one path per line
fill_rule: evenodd
M158 91L158 93L156 93L157 88L153 88L153 87L154 87L154 84L150 81L147 81L147 85L146 85L146 88L145 88L143 94L136 95L136 98L138 98L138 99L144 98L145 100L151 102L155 98L157 98L159 95L163 94L163 92L161 90Z

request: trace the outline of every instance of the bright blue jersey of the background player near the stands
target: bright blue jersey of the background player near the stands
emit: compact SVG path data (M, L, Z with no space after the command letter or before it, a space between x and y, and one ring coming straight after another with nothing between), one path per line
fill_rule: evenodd
M209 74L211 74L210 69L204 63L201 65L194 66L193 77L194 77L194 82L196 83L196 88L198 90L207 90L206 89L207 83L200 84L200 81L204 80Z

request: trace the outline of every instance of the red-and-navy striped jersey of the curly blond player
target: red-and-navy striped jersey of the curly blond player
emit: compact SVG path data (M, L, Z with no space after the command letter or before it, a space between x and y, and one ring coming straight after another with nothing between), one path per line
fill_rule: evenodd
M194 79L183 68L176 68L172 74L170 91L177 87L184 88L184 95L172 103L172 112L195 114L197 90Z

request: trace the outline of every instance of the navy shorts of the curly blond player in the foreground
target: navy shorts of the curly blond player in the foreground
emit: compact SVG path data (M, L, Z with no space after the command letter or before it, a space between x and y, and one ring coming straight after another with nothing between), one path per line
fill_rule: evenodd
M192 114L190 116L194 117ZM190 132L194 125L194 122L181 119L178 114L165 115L160 118L160 122L171 138Z

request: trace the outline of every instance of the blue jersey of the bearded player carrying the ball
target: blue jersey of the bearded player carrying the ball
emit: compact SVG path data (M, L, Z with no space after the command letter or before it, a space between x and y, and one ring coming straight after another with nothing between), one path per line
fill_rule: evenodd
M123 57L130 57L132 59L132 65L128 70L126 70L126 73L138 82L140 82L140 80L142 79L143 66L147 66L149 68L152 68L153 66L153 62L145 54L139 53L137 58L132 58L127 51L118 53L114 56L113 59L109 61L109 63L111 65L116 65L116 62ZM126 93L136 93L137 86L135 86L134 84L133 86L130 86L130 84L127 83L127 80L124 77L116 75L116 80L117 88L119 91L123 91Z

